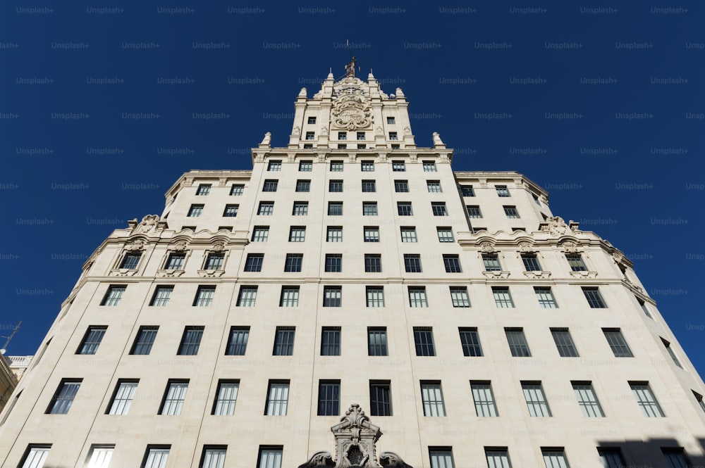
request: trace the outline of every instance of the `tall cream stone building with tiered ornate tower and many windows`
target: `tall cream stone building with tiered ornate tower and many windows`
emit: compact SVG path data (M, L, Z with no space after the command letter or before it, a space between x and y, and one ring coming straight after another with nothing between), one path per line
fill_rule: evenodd
M523 175L453 172L400 89L348 75L301 90L286 148L186 172L97 248L2 466L702 460L705 386L630 260Z

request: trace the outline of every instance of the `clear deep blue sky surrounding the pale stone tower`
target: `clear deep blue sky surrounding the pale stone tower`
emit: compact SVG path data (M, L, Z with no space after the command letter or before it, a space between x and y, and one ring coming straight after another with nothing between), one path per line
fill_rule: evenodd
M437 131L455 170L522 172L624 251L705 374L701 2L48 5L0 7L8 354L35 352L94 248L183 172L250 169L264 132L285 146L349 41L362 77L405 92L417 144Z

